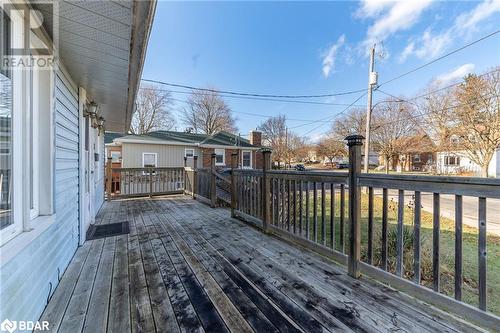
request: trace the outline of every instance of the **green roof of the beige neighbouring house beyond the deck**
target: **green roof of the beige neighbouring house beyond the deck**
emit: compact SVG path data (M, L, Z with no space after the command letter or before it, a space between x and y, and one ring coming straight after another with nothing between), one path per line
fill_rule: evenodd
M238 137L237 135L229 132L219 132L214 135L187 133L187 132L174 132L174 131L154 131L147 134L140 135L127 135L124 138L138 138L138 139L152 139L174 141L187 144L204 144L204 145L217 145L217 146L239 146L239 147L256 147L251 145L247 139ZM239 143L239 144L237 144Z

